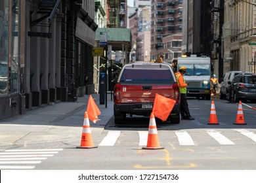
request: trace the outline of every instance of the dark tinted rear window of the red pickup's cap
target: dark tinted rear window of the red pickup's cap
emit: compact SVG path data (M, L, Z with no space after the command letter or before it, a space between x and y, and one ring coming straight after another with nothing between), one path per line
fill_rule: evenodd
M124 69L120 82L173 82L169 69Z

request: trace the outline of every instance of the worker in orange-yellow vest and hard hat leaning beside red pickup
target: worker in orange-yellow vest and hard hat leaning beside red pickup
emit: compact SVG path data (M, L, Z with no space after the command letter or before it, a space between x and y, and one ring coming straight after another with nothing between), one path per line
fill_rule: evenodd
M183 75L186 73L186 67L182 66L179 69L179 72L175 73L177 82L181 92L181 120L195 120L190 115L188 109L188 102L186 101L186 87L188 84L185 82Z

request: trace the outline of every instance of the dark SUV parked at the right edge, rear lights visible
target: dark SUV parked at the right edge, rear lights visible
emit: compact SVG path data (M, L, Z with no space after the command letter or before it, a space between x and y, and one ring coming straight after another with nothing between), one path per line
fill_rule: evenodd
M228 101L256 101L256 75L241 73L236 75L228 88Z

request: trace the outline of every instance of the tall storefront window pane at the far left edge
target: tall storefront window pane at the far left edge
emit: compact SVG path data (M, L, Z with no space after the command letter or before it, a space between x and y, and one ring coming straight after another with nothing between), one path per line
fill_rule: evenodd
M0 0L0 95L8 92L8 3Z

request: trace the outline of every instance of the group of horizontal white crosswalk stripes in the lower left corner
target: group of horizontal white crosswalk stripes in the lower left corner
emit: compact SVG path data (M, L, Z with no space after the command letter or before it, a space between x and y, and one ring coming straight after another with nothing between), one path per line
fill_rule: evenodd
M23 149L0 152L0 169L34 169L48 157L54 156L60 149Z

